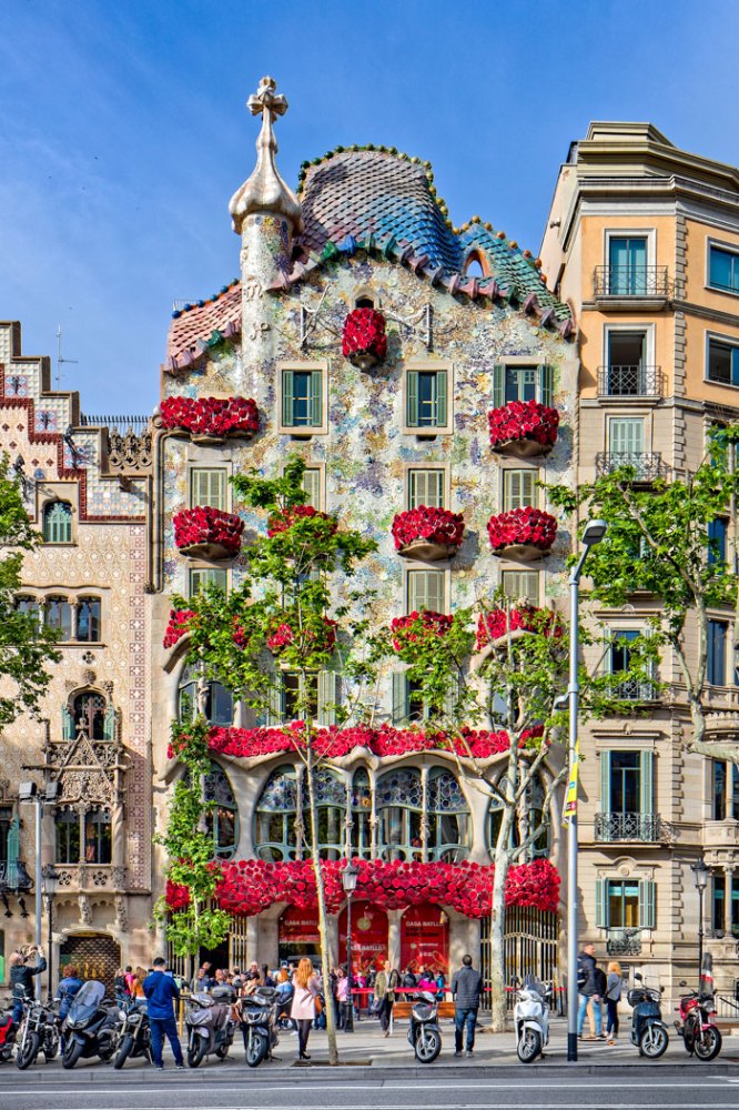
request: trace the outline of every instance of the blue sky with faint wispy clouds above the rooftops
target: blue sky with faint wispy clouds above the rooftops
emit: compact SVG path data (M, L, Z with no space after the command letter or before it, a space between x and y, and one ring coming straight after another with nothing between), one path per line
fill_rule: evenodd
M536 252L591 119L739 163L736 0L3 0L0 319L64 354L88 413L151 412L171 302L237 275L244 102L290 101L279 163L337 143L428 159L455 223Z

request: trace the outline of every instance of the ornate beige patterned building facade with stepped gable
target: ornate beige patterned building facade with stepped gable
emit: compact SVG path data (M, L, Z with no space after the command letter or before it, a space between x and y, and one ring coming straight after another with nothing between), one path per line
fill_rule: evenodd
M50 379L49 359L22 352L20 325L0 323L0 450L43 536L18 604L59 629L62 654L41 720L2 730L0 980L34 937L37 805L18 800L30 781L53 795L41 826L42 864L57 872L42 930L53 981L74 961L112 986L121 960L148 961L150 947L151 437L145 421L136 435L84 417Z

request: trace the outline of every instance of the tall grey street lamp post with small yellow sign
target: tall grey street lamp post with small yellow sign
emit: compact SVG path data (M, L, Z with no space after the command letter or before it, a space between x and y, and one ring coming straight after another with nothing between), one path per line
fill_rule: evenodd
M580 575L588 552L599 544L608 531L605 521L588 521L583 532L585 549L569 576L569 781L575 781L574 806L567 827L567 1059L577 1060L577 712L580 693L578 682Z

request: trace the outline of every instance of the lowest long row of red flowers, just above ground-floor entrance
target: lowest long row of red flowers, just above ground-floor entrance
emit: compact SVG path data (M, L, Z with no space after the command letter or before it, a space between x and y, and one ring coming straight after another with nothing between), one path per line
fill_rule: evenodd
M446 906L466 917L480 918L490 912L494 865L404 862L355 859L358 868L356 898L383 909L404 909L432 902ZM326 908L337 914L344 902L342 870L344 860L322 864L326 888ZM216 890L220 907L230 914L251 917L275 902L312 909L316 905L315 877L310 860L265 862L240 859L221 865L222 878ZM512 867L506 878L507 906L534 906L556 912L559 904L559 875L547 859Z

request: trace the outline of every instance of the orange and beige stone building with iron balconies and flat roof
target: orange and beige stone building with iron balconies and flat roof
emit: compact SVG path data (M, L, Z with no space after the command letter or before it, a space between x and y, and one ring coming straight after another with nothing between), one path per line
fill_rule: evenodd
M591 123L559 171L541 259L578 321L579 480L625 462L645 485L697 467L709 428L739 417L739 171L678 150L651 124ZM728 513L715 527L733 562ZM594 619L637 636L658 607L638 595ZM709 734L736 738L733 613L710 617ZM606 665L620 669L624 650ZM689 751L677 662L662 658L658 677L667 696L648 684L627 693L646 715L591 726L583 740L583 930L677 996L697 975L690 868L702 856L707 950L728 991L739 977L738 768Z

